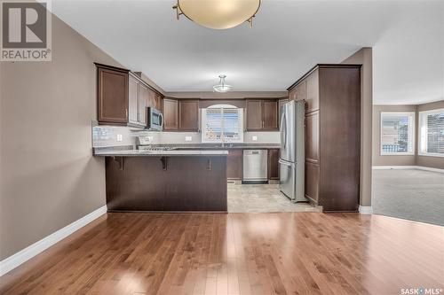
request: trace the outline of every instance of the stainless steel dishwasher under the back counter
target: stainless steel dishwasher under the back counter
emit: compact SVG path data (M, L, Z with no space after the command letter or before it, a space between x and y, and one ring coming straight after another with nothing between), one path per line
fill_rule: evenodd
M242 183L267 183L267 150L243 150Z

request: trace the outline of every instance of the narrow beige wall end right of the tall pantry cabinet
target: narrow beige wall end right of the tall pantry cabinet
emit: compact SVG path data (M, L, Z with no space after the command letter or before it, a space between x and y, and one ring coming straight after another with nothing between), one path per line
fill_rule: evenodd
M371 206L373 59L371 48L362 48L343 64L361 67L361 206Z

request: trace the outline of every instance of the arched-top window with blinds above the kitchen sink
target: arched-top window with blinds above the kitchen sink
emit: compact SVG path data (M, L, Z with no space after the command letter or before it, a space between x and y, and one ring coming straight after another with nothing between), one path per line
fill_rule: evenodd
M234 105L212 105L202 109L203 143L242 143L242 109Z

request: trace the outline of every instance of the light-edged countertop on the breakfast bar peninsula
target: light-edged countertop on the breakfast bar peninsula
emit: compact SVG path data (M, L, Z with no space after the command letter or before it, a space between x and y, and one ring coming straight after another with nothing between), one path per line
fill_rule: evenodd
M180 157L180 156L226 156L228 151L202 151L202 150L173 150L173 151L95 151L94 156L99 157Z

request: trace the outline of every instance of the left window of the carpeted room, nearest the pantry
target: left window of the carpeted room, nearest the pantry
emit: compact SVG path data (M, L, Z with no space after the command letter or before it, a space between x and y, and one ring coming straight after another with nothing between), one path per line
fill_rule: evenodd
M415 113L381 113L381 155L415 154Z

